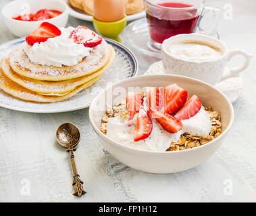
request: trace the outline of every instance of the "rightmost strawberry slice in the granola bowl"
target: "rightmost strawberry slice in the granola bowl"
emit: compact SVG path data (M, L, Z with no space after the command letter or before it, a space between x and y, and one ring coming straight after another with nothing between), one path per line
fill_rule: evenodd
M186 101L184 106L179 109L174 117L180 120L189 119L190 117L196 115L201 107L201 100L197 97L197 95L194 94L188 99L188 101Z

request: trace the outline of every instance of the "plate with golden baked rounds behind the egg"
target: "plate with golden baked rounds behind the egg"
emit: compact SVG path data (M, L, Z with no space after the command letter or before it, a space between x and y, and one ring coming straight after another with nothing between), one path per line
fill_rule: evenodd
M93 21L93 0L66 1L70 16L80 20ZM125 0L127 21L137 20L146 16L143 0Z

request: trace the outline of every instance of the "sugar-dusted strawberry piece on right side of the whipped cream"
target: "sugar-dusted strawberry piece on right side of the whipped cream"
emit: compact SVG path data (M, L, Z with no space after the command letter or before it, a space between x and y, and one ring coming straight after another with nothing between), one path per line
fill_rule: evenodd
M86 26L77 26L70 34L74 43L83 44L84 47L96 47L102 42L102 37Z

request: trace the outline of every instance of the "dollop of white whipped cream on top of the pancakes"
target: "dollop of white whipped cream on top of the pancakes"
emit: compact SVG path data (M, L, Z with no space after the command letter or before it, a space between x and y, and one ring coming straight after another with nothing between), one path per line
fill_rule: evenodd
M44 43L35 43L33 46L24 43L24 51L30 61L56 67L72 66L90 55L93 48L74 43L70 38L73 27L59 28L59 30L61 30L61 35L48 38Z

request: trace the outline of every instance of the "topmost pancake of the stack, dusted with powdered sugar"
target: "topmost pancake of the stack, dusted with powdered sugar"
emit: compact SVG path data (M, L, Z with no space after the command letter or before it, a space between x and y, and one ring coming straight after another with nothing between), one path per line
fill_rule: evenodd
M24 47L26 47L26 42L9 54L11 68L22 76L38 80L59 81L91 74L102 68L109 56L109 45L103 40L100 45L91 49L90 55L84 57L76 65L55 67L30 61Z

